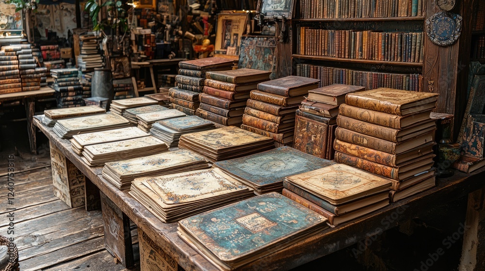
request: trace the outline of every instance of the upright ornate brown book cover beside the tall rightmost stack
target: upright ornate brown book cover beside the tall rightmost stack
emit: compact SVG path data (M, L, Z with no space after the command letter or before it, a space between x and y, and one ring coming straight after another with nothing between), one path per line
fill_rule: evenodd
M296 116L293 147L299 151L325 158L328 124Z

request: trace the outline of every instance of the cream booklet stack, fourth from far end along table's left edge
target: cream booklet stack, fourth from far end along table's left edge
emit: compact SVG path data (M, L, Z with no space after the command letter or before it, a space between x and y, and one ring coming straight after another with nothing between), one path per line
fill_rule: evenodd
M121 141L85 146L82 160L88 166L103 166L104 163L142 157L168 151L162 140L145 136Z

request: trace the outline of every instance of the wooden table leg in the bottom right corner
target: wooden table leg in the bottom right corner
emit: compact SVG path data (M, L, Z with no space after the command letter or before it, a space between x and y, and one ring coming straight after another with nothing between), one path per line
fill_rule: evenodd
M485 270L485 188L468 195L463 248L458 270Z

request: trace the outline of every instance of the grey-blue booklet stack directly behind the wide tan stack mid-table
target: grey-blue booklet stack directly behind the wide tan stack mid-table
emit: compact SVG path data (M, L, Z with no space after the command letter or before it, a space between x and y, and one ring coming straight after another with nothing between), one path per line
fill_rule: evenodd
M180 135L211 129L215 129L215 124L212 121L204 120L197 116L187 116L155 122L150 129L150 134L172 148L178 146Z

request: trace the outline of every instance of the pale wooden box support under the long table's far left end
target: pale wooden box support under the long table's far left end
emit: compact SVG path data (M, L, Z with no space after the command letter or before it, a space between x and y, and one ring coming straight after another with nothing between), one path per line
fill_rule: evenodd
M86 181L84 174L52 143L50 143L50 161L54 195L71 208L84 206Z

